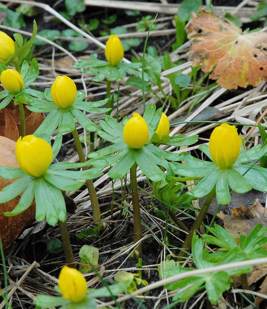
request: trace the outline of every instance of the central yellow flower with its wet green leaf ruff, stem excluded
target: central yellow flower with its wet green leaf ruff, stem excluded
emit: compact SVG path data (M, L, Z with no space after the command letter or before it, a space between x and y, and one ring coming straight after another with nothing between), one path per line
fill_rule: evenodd
M125 117L122 124L106 115L105 121L99 121L103 130L98 130L97 133L113 145L88 154L88 158L94 158L92 165L103 167L116 163L108 172L108 176L120 179L130 171L134 163L137 163L144 175L152 181L165 179L162 167L169 168L167 160L180 161L184 155L164 151L150 144L161 114L161 108L156 110L156 105L150 104L143 117L134 113L134 117L130 119ZM112 153L114 155L111 155Z

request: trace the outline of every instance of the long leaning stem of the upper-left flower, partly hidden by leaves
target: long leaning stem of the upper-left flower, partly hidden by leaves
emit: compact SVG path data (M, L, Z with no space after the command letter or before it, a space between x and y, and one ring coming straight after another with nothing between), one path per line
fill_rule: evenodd
M81 141L79 139L79 135L78 135L76 128L72 131L72 135L74 138L74 144L75 144L80 162L83 163L86 161L86 159L85 159L84 152L82 150ZM88 170L89 167L84 166L82 167L82 169ZM91 200L92 212L93 212L93 218L94 218L95 224L100 225L100 221L99 221L101 219L100 208L99 208L98 198L95 192L93 181L91 179L86 180L86 185L87 185L88 193L89 193L90 200Z

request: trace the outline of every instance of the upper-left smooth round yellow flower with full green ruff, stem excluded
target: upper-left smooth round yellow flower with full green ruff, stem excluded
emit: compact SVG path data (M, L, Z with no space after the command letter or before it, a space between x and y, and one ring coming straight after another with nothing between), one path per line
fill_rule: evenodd
M84 129L94 132L98 126L83 112L98 114L110 111L110 108L98 108L98 106L104 105L108 99L84 102L85 92L77 91L73 80L65 75L58 76L51 89L45 89L44 96L46 101L33 99L31 105L27 105L27 108L32 112L49 113L34 132L36 136L43 133L50 136L56 129L60 133L72 132L75 130L75 118Z

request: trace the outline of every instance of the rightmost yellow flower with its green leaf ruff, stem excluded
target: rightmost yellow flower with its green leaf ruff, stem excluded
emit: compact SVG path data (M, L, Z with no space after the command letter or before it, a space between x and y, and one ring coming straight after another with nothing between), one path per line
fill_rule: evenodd
M257 145L243 153L240 146L236 127L221 124L211 133L210 146L199 146L212 162L186 155L186 164L171 162L169 165L177 175L202 178L188 194L204 197L215 187L217 202L228 204L231 201L229 187L240 194L252 188L267 191L266 169L255 165L266 155L267 145Z

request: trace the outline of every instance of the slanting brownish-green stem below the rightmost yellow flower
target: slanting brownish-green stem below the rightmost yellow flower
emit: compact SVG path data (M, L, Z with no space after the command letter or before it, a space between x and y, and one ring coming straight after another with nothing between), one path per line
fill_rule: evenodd
M207 214L207 210L209 209L209 206L211 205L211 201L213 200L214 196L215 196L215 186L214 188L211 190L211 192L207 195L207 198L204 202L204 204L202 205L201 209L199 210L198 216L189 232L189 234L186 236L186 240L183 243L182 249L179 254L178 254L178 260L183 260L184 257L186 257L186 251L188 252L191 248L191 242L192 242L192 238L194 235L194 231L198 231L206 214Z

